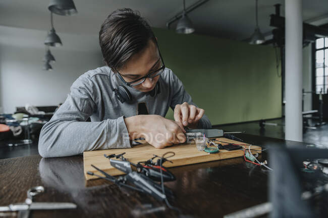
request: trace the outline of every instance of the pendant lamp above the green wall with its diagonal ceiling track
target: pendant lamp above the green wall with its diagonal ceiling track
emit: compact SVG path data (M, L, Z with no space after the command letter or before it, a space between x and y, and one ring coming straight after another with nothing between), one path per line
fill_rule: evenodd
M195 31L195 28L193 27L191 21L189 20L187 14L191 11L195 10L199 6L203 5L204 3L208 2L208 0L200 0L193 5L189 6L188 8L185 7L185 1L183 1L183 11L178 13L176 16L171 18L167 23L166 26L168 29L170 29L170 26L172 23L178 21L176 32L177 33L184 33L189 34L193 33Z

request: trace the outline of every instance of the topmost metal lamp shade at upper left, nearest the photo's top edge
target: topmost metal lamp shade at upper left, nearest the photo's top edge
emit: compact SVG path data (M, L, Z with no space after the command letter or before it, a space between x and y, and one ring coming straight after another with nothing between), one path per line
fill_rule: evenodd
M51 0L49 11L57 15L73 15L77 13L73 0Z

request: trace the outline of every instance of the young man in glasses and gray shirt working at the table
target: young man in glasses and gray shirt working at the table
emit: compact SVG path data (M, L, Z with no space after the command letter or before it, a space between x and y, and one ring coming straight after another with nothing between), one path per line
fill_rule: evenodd
M166 68L157 39L137 12L121 9L109 15L99 43L106 66L73 83L65 103L41 130L42 157L131 148L130 140L139 137L161 149L185 142L185 127L211 128L204 110ZM164 118L169 107L175 121Z

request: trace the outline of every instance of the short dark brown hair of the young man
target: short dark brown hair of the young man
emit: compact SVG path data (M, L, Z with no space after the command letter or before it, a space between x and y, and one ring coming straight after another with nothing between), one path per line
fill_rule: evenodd
M105 63L114 71L122 68L132 55L144 49L149 40L156 42L147 21L132 9L118 9L104 20L99 44Z

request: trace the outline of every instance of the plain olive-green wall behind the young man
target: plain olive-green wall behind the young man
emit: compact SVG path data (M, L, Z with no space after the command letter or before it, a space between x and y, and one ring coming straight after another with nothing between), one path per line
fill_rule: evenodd
M272 46L153 31L166 66L212 125L282 116L282 83ZM173 119L171 109L167 118Z

